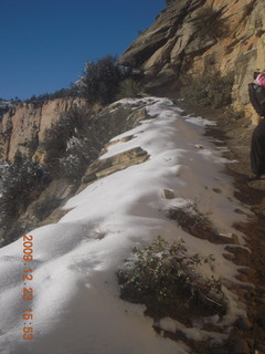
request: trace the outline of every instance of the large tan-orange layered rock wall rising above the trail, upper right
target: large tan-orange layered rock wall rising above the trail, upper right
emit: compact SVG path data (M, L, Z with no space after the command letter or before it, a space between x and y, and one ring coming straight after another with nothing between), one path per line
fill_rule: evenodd
M172 0L119 61L176 87L182 73L234 71L234 107L248 112L247 83L265 70L265 0Z

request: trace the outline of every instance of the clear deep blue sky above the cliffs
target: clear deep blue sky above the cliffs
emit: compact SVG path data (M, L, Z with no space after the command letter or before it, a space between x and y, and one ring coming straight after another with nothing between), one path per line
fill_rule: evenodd
M0 0L0 97L66 88L85 62L120 55L165 0Z

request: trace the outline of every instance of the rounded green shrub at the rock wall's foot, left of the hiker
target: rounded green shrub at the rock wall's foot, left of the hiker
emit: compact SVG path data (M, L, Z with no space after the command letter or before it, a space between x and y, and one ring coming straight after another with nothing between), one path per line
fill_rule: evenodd
M181 95L187 103L198 106L213 106L214 108L232 103L233 72L221 76L219 71L209 70L184 81Z

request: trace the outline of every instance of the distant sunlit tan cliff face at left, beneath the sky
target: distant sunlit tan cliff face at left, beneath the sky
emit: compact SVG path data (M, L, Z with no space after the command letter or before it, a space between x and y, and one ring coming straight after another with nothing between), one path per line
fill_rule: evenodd
M28 154L32 144L45 138L46 129L74 105L82 106L80 98L56 98L43 105L20 103L4 113L0 122L0 160L12 160L17 150Z

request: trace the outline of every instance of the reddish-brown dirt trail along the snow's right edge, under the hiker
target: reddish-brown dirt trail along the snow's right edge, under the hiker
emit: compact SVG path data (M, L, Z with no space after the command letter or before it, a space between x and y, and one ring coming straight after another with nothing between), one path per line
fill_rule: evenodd
M251 253L242 248L231 248L231 259L243 266L239 279L254 287L237 287L240 301L247 306L247 320L240 321L230 339L229 353L265 353L265 176L257 181L248 181L250 145L254 126L250 118L236 118L227 110L211 110L179 106L189 114L216 122L208 128L206 135L220 140L219 145L230 150L224 156L235 164L226 165L226 173L234 178L235 197L248 206L253 216L244 225L235 228L245 235L245 242ZM236 287L235 287L236 288ZM237 350L235 350L237 347Z

